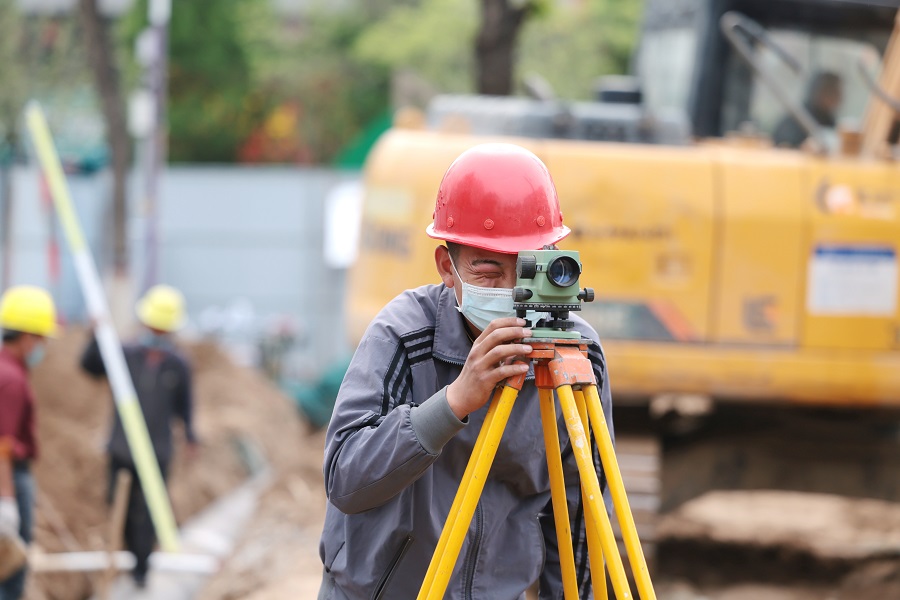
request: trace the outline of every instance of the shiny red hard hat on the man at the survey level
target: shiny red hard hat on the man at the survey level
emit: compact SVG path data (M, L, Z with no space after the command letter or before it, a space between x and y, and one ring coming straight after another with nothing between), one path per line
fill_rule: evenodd
M481 144L453 161L438 188L429 236L515 254L569 235L547 167L514 144Z

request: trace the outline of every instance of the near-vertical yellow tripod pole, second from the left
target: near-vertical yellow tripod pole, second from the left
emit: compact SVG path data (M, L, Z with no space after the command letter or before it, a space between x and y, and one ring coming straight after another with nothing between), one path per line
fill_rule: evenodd
M544 446L547 449L547 470L550 472L550 498L553 501L553 521L559 546L559 566L562 571L566 600L578 600L578 576L575 574L575 553L572 551L572 530L569 507L566 503L566 480L562 471L559 433L556 431L556 401L553 390L539 390L541 424L544 427Z

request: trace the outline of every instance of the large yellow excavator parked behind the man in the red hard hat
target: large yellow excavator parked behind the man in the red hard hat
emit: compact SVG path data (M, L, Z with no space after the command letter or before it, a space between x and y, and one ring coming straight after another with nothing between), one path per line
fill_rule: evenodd
M436 281L424 230L451 161L511 141L549 167L596 290L617 434L658 440L652 508L712 488L900 500L897 3L645 6L633 75L593 101L531 83L398 113L366 165L352 338Z

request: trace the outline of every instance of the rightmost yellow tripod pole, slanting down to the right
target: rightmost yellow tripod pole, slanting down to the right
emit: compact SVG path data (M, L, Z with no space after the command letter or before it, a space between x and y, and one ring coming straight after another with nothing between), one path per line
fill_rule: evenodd
M622 473L619 471L619 463L616 461L612 437L609 435L609 427L603 416L603 406L597 386L585 386L584 394L587 400L588 415L591 425L594 427L594 436L597 438L597 446L600 450L600 460L603 462L603 470L612 494L613 506L622 529L625 550L628 552L628 560L631 561L631 570L634 573L638 594L640 594L641 600L656 600L656 592L653 590L650 572L647 570L647 560L644 558L641 540L637 534L637 527L634 525L634 516L631 514L628 496L625 494Z

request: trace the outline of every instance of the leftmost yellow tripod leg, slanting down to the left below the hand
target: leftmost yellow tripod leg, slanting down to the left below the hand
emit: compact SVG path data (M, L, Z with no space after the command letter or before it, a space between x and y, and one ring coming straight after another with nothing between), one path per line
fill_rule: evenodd
M447 537L447 543L441 554L435 552L431 558L432 562L438 560L438 566L434 573L434 579L429 589L422 586L419 590L417 598L419 600L441 600L447 585L450 583L450 576L453 574L453 567L456 566L456 560L459 558L459 551L462 549L463 540L466 532L469 530L469 524L472 522L472 516L475 514L475 507L478 505L478 499L484 490L484 482L491 470L491 464L494 462L494 456L497 454L497 446L500 444L500 438L503 437L503 430L509 420L509 413L512 411L513 404L519 390L513 387L505 386L499 398L495 398L495 413L489 427L482 427L484 433L484 442L481 452L477 455L473 453L476 459L475 467L472 470L471 481L464 490L464 495L460 501L459 508L455 514L451 514L447 518L447 525L451 525L450 533ZM485 425L488 425L485 423ZM481 435L481 434L479 434ZM460 491L463 491L460 489ZM452 520L452 523L451 523ZM429 570L431 568L429 567Z

